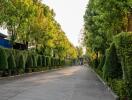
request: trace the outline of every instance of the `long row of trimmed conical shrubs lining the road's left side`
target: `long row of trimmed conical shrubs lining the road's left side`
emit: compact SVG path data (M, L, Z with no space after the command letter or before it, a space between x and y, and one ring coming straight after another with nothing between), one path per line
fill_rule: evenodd
M0 75L18 75L70 65L70 60L38 55L34 52L0 47Z

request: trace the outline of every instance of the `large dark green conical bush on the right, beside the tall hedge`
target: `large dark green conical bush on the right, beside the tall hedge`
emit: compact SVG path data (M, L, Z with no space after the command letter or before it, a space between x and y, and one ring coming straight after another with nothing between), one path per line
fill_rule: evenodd
M117 57L115 44L112 43L106 53L106 60L103 66L103 77L106 80L109 78L122 78L122 68Z

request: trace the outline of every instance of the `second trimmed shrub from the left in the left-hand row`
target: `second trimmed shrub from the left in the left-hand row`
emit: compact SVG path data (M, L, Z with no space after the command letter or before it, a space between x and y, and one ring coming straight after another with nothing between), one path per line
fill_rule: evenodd
M14 55L11 53L10 56L8 57L8 69L9 70L15 70L16 69L16 62Z

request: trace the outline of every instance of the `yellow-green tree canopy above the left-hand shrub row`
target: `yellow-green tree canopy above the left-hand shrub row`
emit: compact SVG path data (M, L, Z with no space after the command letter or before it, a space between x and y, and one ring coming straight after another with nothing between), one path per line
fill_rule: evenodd
M41 0L0 0L0 25L7 28L12 43L34 46L38 53L77 57L55 12Z

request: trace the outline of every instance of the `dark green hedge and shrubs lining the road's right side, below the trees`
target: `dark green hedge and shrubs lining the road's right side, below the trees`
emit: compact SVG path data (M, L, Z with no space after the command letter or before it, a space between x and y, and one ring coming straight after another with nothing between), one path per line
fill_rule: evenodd
M114 37L110 48L92 66L117 93L120 100L132 100L132 33Z

